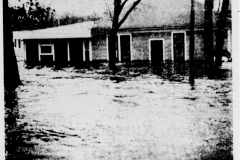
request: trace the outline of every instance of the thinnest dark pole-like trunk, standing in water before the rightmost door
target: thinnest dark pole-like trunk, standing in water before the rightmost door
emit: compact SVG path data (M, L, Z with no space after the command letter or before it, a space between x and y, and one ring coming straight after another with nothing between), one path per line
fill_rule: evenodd
M194 86L194 50L195 50L195 37L194 37L194 25L195 25L195 0L191 0L191 19L190 19L190 74L189 82L191 86Z

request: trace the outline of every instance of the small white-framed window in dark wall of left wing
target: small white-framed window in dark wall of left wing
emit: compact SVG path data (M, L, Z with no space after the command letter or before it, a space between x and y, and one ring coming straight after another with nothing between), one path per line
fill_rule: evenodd
M51 58L53 61L55 61L53 44L39 44L38 50L39 50L39 61L41 61L47 57L48 57L48 59Z

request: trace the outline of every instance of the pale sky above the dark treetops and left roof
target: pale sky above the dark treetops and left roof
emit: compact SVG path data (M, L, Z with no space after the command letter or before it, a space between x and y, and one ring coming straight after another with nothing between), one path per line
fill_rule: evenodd
M9 1L11 5L20 4L18 0ZM21 2L24 1L27 0L21 0ZM50 6L52 9L56 9L56 13L59 16L63 15L64 13L72 13L81 16L91 15L94 13L101 15L105 11L106 7L104 0L38 0L38 1L41 4ZM202 3L204 2L204 0L197 1Z

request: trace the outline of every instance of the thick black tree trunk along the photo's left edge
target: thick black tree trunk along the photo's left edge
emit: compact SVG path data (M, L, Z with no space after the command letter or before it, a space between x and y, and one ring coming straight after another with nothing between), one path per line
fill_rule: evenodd
M5 90L15 90L21 84L16 55L14 53L12 25L8 0L3 0L3 60Z

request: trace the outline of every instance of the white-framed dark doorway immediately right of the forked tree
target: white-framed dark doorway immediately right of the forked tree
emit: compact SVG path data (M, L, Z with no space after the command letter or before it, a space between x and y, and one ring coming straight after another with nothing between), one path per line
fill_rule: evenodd
M131 40L130 35L120 35L121 61L130 62Z

